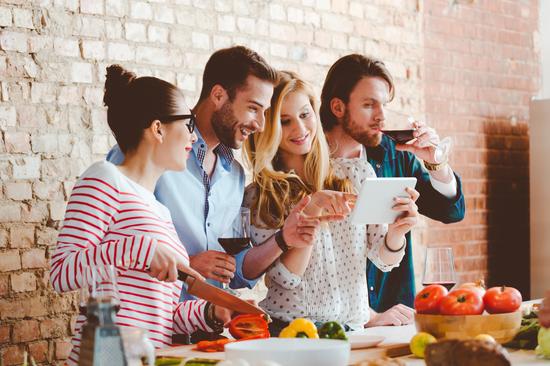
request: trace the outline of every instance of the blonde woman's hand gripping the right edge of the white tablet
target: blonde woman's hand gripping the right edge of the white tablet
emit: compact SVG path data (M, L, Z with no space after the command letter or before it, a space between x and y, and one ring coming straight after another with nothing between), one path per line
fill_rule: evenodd
M386 240L388 246L391 248L399 248L401 245L394 243L401 243L403 241L403 236L418 223L418 206L416 205L416 200L420 196L420 193L418 193L416 189L409 187L407 187L405 191L408 193L409 197L395 197L394 199L395 205L393 209L402 212L402 214L393 224L388 226Z

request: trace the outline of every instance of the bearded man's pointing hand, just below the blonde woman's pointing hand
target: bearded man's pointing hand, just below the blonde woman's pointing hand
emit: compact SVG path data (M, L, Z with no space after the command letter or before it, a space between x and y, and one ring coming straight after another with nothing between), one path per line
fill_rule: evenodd
M302 198L285 220L281 230L283 232L283 239L289 247L304 248L312 245L322 222L344 218L343 215L337 214L309 216L305 214L304 210L310 202L311 196Z

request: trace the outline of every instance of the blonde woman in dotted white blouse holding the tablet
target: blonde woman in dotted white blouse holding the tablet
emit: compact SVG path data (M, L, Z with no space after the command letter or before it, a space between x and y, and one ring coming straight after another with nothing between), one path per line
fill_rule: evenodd
M362 328L370 313L367 257L384 271L399 265L404 235L417 221L418 192L396 198L394 209L402 215L389 227L352 225L347 214L354 192L365 178L375 176L374 171L366 159L329 159L311 86L293 73L281 74L265 130L244 147L253 169L253 183L245 193L253 242L262 245L276 235L281 247L289 248L268 269L268 294L260 305L274 319L273 335L298 317L317 323L336 320L348 330ZM346 218L322 224L311 245L294 247L285 239L296 233L283 224L306 196L310 198L304 214Z

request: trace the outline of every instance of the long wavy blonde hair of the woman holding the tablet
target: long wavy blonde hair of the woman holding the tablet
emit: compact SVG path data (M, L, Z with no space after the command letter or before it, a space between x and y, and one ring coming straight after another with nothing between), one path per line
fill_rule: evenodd
M283 171L278 151L282 140L281 108L285 97L292 92L303 92L308 96L317 118L317 132L306 155L303 180L293 171ZM282 227L291 208L308 194L323 189L352 191L349 180L334 175L318 110L311 85L293 72L281 71L271 107L265 112L264 131L254 133L243 146L244 158L252 170L257 193L251 205L255 226Z

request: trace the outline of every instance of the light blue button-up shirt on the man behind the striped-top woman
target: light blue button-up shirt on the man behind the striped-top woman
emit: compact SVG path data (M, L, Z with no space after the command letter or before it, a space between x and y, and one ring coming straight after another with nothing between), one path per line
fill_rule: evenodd
M214 173L210 177L208 215L205 219L206 187L203 184L202 166L198 156L206 153L207 145L200 132L195 129L197 141L187 161L187 169L181 172L168 171L157 182L155 196L170 210L178 236L189 255L205 250L224 251L218 243L219 237L229 237L233 220L242 204L245 175L242 166L232 157L218 153ZM124 154L114 146L107 160L114 164L124 161ZM248 250L235 256L235 277L231 288L252 288L258 279L248 280L242 273L244 257ZM210 281L217 286L219 282ZM185 291L182 294L184 298Z

